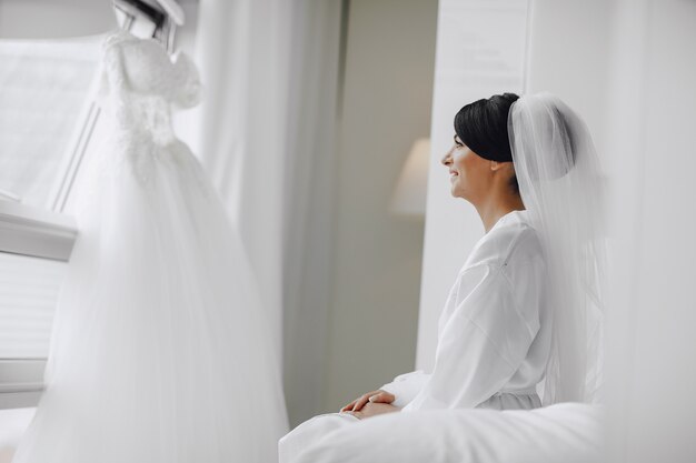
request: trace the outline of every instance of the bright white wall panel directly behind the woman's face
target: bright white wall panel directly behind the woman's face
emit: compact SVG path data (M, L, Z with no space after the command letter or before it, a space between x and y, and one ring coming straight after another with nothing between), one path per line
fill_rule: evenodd
M432 101L432 153L418 322L417 366L429 371L437 320L457 271L484 227L471 204L454 199L440 159L451 147L459 109L496 93L521 92L527 31L526 0L441 0Z

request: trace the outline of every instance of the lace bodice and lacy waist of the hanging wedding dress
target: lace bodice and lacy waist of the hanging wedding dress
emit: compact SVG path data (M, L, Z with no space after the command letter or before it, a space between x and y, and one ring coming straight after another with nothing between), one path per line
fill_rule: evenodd
M95 175L106 180L131 172L142 188L151 189L158 175L173 169L211 194L198 160L176 138L171 123L173 108L200 100L193 62L183 53L170 58L156 40L122 30L108 36L102 47L98 102L109 127L95 158Z

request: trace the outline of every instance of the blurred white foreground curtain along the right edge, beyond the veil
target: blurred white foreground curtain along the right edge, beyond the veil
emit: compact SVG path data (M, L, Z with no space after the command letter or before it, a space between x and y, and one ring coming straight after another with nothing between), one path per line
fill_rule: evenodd
M696 2L614 0L610 462L696 461Z

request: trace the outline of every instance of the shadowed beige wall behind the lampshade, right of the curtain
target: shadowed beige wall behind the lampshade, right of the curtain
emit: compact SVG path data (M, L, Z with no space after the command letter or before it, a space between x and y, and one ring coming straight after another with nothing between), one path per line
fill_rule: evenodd
M422 222L389 201L429 133L436 16L434 0L350 1L326 411L414 369Z

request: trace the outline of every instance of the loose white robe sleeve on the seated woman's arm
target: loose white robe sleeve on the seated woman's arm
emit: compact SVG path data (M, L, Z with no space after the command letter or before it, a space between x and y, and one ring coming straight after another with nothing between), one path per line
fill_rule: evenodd
M435 368L405 410L475 407L515 374L539 329L538 266L478 264L459 275L451 313L440 321Z

